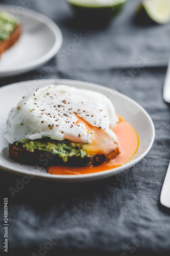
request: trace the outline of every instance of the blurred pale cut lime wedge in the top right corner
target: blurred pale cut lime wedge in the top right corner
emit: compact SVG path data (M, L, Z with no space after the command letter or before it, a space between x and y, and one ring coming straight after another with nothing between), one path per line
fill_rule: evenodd
M152 20L158 24L170 21L170 0L143 0L137 7L138 19ZM147 20L148 18L148 20Z

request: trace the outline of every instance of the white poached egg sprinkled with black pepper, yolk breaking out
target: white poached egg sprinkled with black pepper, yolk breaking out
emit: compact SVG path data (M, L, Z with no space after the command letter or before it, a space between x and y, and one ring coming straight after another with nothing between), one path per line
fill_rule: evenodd
M50 137L90 145L95 130L103 140L115 144L117 138L112 129L117 122L114 106L103 94L52 84L23 97L11 110L5 137L11 144L24 138Z

